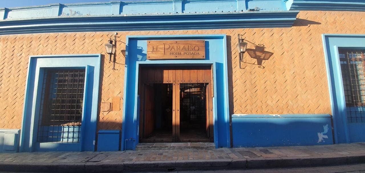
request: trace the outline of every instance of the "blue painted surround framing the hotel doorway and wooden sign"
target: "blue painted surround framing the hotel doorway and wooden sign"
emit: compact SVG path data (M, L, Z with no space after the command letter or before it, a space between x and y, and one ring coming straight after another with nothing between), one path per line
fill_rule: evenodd
M212 49L212 55L206 60L131 60L133 51L130 47L131 42L146 41L147 39L205 39L215 42L216 48ZM138 131L139 131L139 115L137 110L139 106L138 91L138 72L139 66L152 65L178 65L178 66L194 66L194 65L213 65L214 72L214 142L216 147L230 147L230 123L229 123L229 109L228 109L228 73L227 73L227 50L226 50L226 35L142 35L142 36L127 36L126 38L126 66L124 76L124 100L123 100L123 122L122 122L122 150L134 149L135 144L138 143ZM136 45L134 45L135 47ZM139 45L141 51L145 51L146 45ZM220 48L220 49L218 49ZM206 47L207 54L209 54L209 48ZM216 52L216 53L215 53ZM136 54L134 52L134 54ZM221 55L220 55L221 54ZM208 58L208 56L207 56ZM218 59L217 59L218 58ZM142 58L143 59L143 58ZM219 60L219 61L218 61ZM129 69L131 68L131 69ZM135 68L135 69L134 69ZM217 72L219 71L219 73ZM132 76L131 78L129 76ZM219 80L218 77L219 76ZM133 81L129 81L129 80ZM223 85L217 85L219 84ZM130 86L129 86L130 85ZM218 86L220 87L219 97L223 99L217 99ZM132 95L132 96L131 96ZM128 98L134 98L130 100ZM136 99L137 98L137 99ZM132 103L131 103L132 102ZM219 103L219 104L218 104ZM219 111L217 111L219 105ZM133 109L133 110L131 110ZM219 116L219 117L218 117ZM228 131L227 131L228 130ZM129 140L132 138L132 140ZM126 142L134 142L134 146L126 146Z

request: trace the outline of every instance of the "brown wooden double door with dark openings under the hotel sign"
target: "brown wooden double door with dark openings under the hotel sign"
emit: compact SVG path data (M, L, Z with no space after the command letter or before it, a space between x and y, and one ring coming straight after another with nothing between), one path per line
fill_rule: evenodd
M213 142L211 68L140 69L140 142Z

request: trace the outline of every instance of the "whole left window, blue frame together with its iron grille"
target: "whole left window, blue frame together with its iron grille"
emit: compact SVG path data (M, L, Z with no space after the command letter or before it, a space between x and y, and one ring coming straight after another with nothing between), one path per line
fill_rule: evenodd
M100 61L100 54L30 57L20 151L95 150ZM62 72L62 75L67 74L62 79L64 81L52 81L60 77L60 74L56 74L59 72ZM71 75L70 72L82 74L77 74L79 76L75 78L71 77L74 74ZM50 80L48 84L47 78ZM59 88L57 85L60 85ZM72 89L73 87L76 88ZM46 92L46 89L53 91ZM70 93L73 92L77 94L71 96ZM61 97L64 98L61 99ZM53 112L47 112L49 108L44 107L45 99L64 101L64 103L55 102L51 105ZM55 109L64 112L55 112ZM76 115L73 116L73 120L70 118L72 114ZM57 120L62 121L57 122Z

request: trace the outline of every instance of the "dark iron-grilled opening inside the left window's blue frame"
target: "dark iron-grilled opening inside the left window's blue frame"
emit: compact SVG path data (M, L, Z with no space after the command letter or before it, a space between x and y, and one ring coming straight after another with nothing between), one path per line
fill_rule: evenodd
M38 142L80 142L85 69L47 69L43 77Z

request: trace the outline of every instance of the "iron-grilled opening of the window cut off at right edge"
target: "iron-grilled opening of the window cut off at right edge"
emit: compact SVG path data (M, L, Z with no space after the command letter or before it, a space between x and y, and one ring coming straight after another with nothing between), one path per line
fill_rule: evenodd
M347 119L365 122L365 56L364 49L339 49Z

